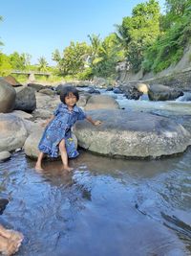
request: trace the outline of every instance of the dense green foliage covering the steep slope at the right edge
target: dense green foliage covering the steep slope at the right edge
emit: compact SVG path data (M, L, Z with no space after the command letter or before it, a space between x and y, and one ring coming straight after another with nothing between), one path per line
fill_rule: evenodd
M177 1L169 2L171 4L177 3ZM142 62L144 72L154 71L158 73L171 64L176 64L182 57L184 48L191 42L191 12L187 8L184 8L184 11L182 8L180 10L183 14L181 13L179 18L173 17L173 25L145 51ZM177 9L176 12L178 12ZM177 21L175 22L175 20Z

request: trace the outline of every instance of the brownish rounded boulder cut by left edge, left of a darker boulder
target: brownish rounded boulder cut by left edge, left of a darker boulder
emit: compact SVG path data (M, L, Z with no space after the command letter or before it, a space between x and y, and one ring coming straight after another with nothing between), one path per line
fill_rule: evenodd
M16 91L10 83L0 78L0 113L8 113L14 107Z

